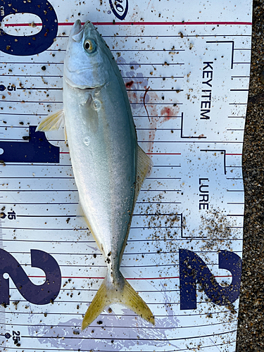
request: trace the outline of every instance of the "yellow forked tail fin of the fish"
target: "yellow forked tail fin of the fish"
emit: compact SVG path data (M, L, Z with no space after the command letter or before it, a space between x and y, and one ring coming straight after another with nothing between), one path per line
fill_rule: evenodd
M144 320L155 325L155 320L149 307L120 273L118 285L113 285L109 275L103 280L101 287L96 292L92 303L84 315L82 330L88 327L112 303L120 303L130 308Z

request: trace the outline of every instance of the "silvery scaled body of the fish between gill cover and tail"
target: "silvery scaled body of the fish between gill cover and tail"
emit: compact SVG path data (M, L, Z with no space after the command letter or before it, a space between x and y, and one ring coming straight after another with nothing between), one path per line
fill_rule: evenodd
M63 95L70 158L80 203L101 251L105 256L112 253L111 258L119 261L118 253L134 201L137 138L130 116L123 118L122 90L112 76L111 82L97 94L75 92L80 89L65 83ZM79 95L87 95L87 101L91 100L85 103L85 108L78 106ZM96 111L94 100L101 105ZM87 116L96 120L92 128Z

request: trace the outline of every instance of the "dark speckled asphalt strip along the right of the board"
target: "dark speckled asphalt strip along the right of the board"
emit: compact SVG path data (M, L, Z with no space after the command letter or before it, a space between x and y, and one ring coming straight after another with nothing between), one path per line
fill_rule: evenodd
M264 351L264 1L253 1L249 104L244 134L244 252L237 352Z

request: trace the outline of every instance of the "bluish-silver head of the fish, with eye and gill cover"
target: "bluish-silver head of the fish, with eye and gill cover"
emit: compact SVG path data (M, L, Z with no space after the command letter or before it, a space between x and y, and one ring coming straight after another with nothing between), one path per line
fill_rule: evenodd
M65 82L79 89L94 89L108 83L111 51L94 25L77 20L70 32L64 60Z

